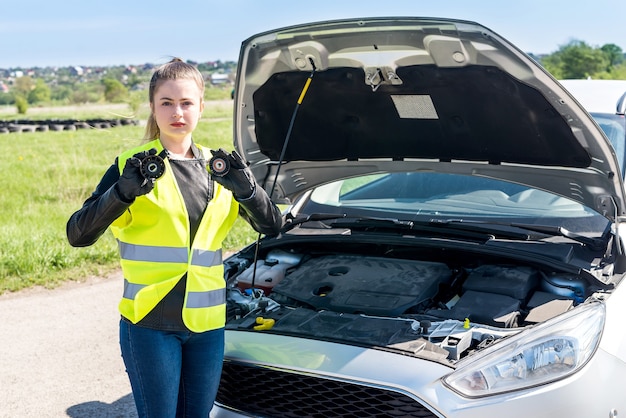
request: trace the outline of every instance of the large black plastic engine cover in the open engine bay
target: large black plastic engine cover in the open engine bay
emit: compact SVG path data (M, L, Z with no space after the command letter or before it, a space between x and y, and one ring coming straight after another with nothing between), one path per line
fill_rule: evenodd
M398 316L428 303L451 276L442 263L331 255L301 264L274 287L272 297L317 310Z

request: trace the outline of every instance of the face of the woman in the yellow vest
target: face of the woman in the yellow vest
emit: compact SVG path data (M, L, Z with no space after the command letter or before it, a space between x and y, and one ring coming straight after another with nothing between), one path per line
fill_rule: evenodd
M151 103L161 141L182 142L191 133L204 109L202 91L194 80L165 80L155 90Z

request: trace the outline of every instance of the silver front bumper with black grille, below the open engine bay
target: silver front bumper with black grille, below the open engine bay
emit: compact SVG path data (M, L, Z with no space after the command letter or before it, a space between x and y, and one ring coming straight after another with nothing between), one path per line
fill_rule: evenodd
M451 372L435 362L372 348L227 332L223 380L211 417L588 418L626 411L626 365L602 350L567 379L478 399L444 387L441 378Z

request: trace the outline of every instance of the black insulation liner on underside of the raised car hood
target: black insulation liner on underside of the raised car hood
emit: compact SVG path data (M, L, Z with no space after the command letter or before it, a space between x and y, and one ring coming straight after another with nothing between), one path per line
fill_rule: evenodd
M257 142L274 161L309 75L278 73L254 93ZM545 97L498 68L415 66L398 68L397 76L401 85L374 90L359 68L315 73L285 161L424 158L578 168L591 163Z

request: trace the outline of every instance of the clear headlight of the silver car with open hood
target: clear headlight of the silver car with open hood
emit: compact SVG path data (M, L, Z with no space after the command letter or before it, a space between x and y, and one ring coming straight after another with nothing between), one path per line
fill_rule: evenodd
M605 317L603 303L581 305L459 362L443 382L462 396L476 398L563 379L593 356Z

